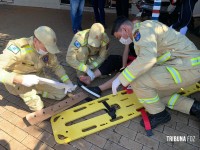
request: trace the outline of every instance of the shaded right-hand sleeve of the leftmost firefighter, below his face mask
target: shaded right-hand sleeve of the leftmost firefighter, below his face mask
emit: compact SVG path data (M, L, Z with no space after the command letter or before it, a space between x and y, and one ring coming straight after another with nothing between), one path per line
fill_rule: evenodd
M57 60L56 55L50 55L50 67L53 70L53 72L59 77L59 79L63 83L71 82L68 75L66 74L65 69L63 66L61 66Z

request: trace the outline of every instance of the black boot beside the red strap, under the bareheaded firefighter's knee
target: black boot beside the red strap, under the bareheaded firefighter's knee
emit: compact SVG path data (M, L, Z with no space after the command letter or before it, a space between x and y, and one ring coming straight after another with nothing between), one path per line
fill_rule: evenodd
M149 122L151 124L151 128L157 127L159 124L167 123L168 121L171 120L170 114L165 110L163 110L160 113L157 113L155 115L150 115L149 116ZM141 126L144 127L144 122L143 119L140 121Z

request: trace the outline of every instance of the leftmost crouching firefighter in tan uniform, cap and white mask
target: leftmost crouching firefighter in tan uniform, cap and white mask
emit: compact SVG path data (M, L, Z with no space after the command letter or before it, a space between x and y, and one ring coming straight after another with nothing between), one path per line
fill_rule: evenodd
M66 96L64 89L39 84L38 79L38 76L47 77L44 67L48 67L66 83L66 87L74 90L64 68L59 65L56 53L59 53L56 35L47 26L37 28L30 38L11 40L0 55L0 81L11 94L19 95L33 111L44 107L38 94L61 100Z

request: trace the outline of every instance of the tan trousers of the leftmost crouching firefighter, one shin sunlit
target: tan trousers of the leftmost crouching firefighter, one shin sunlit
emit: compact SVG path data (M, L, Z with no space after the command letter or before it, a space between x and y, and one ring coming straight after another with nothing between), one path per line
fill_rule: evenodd
M64 89L56 89L47 84L38 84L32 87L25 87L23 85L5 86L11 94L19 95L32 111L41 110L44 107L39 95L54 100L61 100L66 96Z

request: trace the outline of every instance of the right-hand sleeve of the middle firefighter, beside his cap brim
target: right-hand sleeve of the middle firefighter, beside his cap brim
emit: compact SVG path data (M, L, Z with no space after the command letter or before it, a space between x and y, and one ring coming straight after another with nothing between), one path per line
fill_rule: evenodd
M108 38L107 34L105 33L103 35L103 41L102 41L102 44L101 44L101 49L99 51L99 56L97 57L96 60L94 60L92 62L92 67L91 67L92 69L99 67L102 64L102 62L104 62L105 59L107 58L108 49L109 49L109 42L110 42L109 38Z

